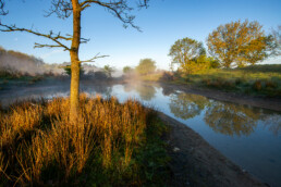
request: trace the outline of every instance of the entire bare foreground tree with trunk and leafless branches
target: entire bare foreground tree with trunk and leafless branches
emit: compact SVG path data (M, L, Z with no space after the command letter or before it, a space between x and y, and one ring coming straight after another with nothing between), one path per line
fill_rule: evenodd
M147 8L149 0L138 0L136 3L137 8ZM135 18L132 15L134 7L132 7L129 0L51 0L51 8L48 11L47 16L56 14L59 18L68 18L73 16L73 35L62 36L60 33L54 34L50 32L48 34L41 34L33 29L20 28L15 25L4 25L0 23L2 32L26 32L40 37L48 38L52 43L35 43L35 48L63 48L70 52L71 57L71 89L70 89L70 117L72 122L77 120L78 114L78 102L80 102L80 67L83 62L93 62L98 58L105 55L96 55L93 59L81 61L78 58L80 45L86 43L88 40L81 37L81 17L82 12L91 5L105 8L117 18L119 18L124 27L132 26L139 30L133 21ZM0 0L0 8L4 5L4 0ZM7 13L7 12L3 12ZM71 41L71 46L65 45L66 41Z

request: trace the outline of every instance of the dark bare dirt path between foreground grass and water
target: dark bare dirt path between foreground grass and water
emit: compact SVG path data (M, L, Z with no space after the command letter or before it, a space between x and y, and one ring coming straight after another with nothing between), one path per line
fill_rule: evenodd
M242 171L186 125L159 113L171 130L166 137L173 173L172 186L267 186Z

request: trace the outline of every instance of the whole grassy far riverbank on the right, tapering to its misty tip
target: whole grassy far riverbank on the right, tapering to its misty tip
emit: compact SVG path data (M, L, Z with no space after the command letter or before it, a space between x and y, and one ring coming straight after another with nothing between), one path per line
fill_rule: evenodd
M179 84L251 97L281 99L281 65L266 64L237 68L210 68L200 73L156 72L136 76L139 80Z

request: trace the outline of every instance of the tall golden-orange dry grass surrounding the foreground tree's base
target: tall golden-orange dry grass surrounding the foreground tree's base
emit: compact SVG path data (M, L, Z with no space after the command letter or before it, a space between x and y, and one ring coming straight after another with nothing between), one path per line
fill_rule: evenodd
M82 175L89 179L93 165L101 173L114 171L112 177L139 182L127 169L146 141L151 110L135 100L119 103L113 97L82 95L80 102L75 125L70 123L68 98L25 102L0 112L0 178L5 185L81 183Z

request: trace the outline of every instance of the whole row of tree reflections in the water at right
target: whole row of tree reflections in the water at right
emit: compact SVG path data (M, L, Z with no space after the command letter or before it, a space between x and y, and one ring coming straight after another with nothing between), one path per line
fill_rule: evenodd
M205 110L204 120L215 132L229 135L241 136L251 135L257 126L257 121L262 120L262 110L241 104L218 102L209 100L203 96L179 94L170 96L170 110L183 120L199 115ZM266 119L264 119L266 120ZM278 134L281 130L281 123L274 117L270 117L269 129ZM274 125L272 125L274 124Z

